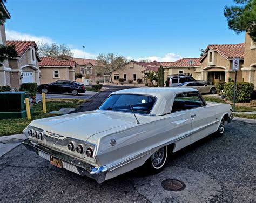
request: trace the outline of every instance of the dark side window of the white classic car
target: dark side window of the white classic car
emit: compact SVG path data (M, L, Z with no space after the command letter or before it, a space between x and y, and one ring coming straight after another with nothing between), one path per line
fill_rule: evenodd
M202 101L197 92L177 94L172 105L172 113L202 106Z

